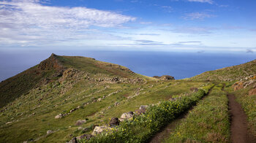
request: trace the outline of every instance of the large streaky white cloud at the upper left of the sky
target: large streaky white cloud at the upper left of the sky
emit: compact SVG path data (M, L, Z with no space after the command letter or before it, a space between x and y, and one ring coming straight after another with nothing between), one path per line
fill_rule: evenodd
M86 7L50 7L45 2L48 0L0 1L0 45L100 37L91 27L122 27L136 19Z

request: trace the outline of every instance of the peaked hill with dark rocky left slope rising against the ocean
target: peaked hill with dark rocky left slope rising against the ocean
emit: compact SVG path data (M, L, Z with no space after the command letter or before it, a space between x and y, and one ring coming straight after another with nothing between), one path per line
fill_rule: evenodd
M97 61L94 58L52 54L37 66L33 66L14 77L0 82L0 107L4 107L4 105L10 101L14 101L15 98L23 94L28 94L29 90L33 88L38 88L48 84L48 82L59 80L67 69L85 71L89 74L106 74L108 76L126 78L147 78L135 74L124 66Z

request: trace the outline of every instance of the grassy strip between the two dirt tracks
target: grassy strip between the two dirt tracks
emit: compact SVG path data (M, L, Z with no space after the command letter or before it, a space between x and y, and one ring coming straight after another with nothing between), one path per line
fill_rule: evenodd
M228 99L222 85L189 112L165 142L229 142Z

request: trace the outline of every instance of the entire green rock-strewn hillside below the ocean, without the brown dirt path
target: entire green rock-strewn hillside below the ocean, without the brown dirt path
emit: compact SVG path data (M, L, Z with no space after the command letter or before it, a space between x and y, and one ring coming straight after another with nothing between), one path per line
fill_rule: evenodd
M175 138L168 133L166 141L215 142L225 136L222 141L229 142L232 134L227 93L238 98L248 116L250 130L256 131L255 63L174 80L146 77L94 58L52 54L37 66L1 82L0 141L69 142L91 136L95 126L104 126L110 131L80 142L148 142L175 121L181 125L173 128ZM241 83L233 85L233 80ZM140 109L144 105L148 107ZM222 110L217 109L220 107ZM135 115L110 128L111 118L121 120L121 115L128 112ZM180 115L187 112L185 118L189 123L179 121ZM211 114L206 116L207 112ZM214 115L218 117L208 122ZM187 126L197 134L191 134Z

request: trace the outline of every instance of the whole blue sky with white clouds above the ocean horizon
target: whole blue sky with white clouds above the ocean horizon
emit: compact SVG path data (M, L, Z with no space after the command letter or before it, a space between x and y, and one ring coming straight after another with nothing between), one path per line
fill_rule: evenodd
M0 1L0 50L256 52L253 0Z

